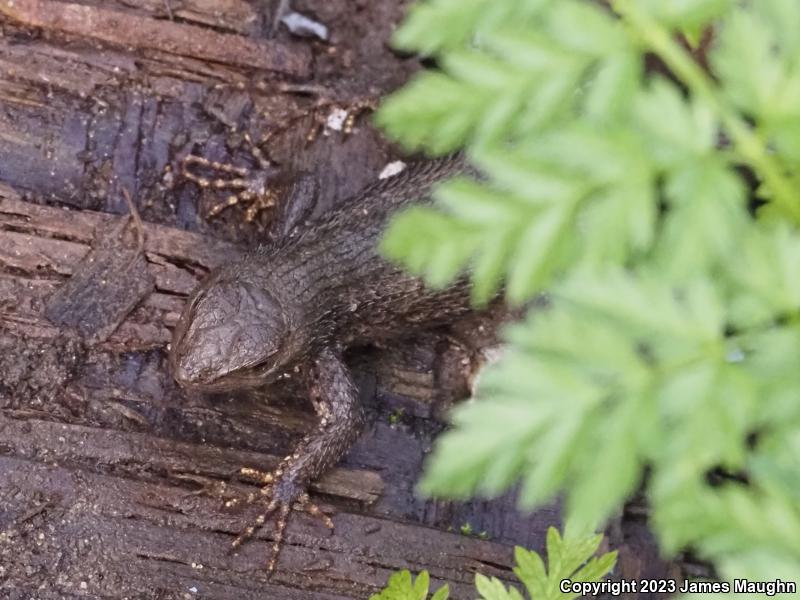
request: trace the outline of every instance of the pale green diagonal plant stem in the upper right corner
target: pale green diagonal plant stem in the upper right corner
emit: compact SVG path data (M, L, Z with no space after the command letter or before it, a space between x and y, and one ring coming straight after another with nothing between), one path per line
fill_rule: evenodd
M789 179L769 155L766 145L738 111L719 93L718 87L672 37L637 3L637 0L612 0L617 13L638 33L647 46L683 81L693 96L702 98L719 116L739 154L759 175L772 193L772 200L795 224L800 225L800 203Z

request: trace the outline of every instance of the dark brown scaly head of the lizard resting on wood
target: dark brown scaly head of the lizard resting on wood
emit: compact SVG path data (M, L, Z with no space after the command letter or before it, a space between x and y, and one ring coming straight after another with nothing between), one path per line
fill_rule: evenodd
M194 291L175 327L170 367L184 387L252 387L283 369L291 330L281 304L235 265Z

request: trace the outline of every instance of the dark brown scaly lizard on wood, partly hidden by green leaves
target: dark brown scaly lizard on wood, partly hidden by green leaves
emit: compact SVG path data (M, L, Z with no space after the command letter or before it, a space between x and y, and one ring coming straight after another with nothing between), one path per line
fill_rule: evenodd
M428 201L434 184L467 170L463 159L450 157L412 165L372 184L294 237L216 270L184 308L170 364L185 387L261 386L295 366L311 365L308 389L319 416L316 429L272 473L242 471L265 484L265 509L234 545L277 512L270 572L292 509L319 516L332 527L306 488L339 461L364 424L342 352L451 322L470 310L463 281L431 290L376 252L392 213Z

